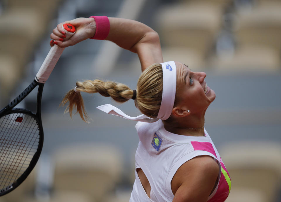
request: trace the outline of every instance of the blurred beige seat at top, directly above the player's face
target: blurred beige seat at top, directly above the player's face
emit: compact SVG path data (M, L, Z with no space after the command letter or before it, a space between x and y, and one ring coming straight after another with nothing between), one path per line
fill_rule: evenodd
M212 3L181 3L160 7L156 24L162 45L189 48L205 56L220 29L222 9Z

